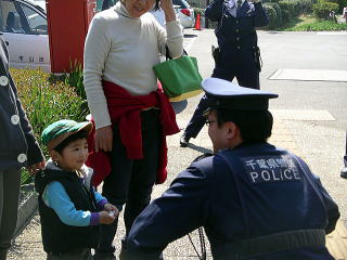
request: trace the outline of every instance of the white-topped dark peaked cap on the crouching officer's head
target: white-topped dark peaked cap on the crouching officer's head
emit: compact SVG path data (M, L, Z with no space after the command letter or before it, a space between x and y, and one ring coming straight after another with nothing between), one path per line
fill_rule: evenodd
M202 87L206 92L210 109L267 110L269 99L279 96L262 90L243 88L218 78L203 80Z

